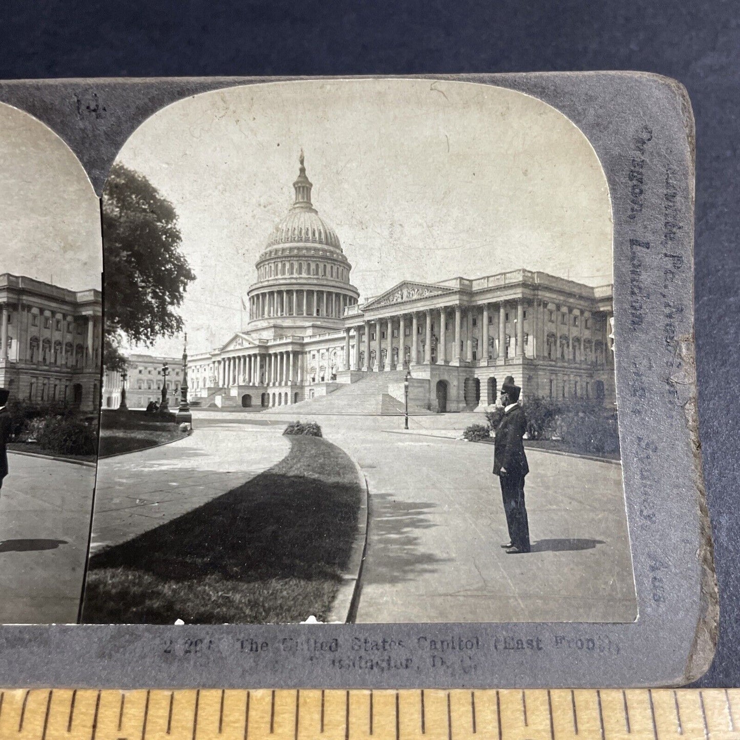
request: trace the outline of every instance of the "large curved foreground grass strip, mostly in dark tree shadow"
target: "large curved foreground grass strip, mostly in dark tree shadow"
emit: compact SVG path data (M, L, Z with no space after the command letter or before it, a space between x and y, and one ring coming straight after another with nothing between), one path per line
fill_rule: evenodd
M252 480L93 556L82 621L326 619L364 494L340 448L289 441L288 456Z

